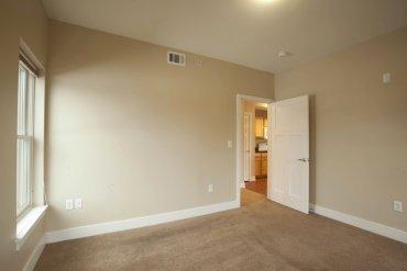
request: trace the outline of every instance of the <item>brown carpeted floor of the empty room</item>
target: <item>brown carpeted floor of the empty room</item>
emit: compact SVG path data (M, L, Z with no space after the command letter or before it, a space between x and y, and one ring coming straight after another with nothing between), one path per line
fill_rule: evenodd
M47 245L35 270L407 270L407 245L248 190L242 207Z

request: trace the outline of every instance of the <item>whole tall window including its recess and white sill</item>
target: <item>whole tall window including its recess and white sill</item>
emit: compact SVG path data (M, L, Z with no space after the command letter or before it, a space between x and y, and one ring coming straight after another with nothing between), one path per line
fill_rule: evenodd
M44 217L44 67L20 41L16 115L16 225L15 248L20 250Z

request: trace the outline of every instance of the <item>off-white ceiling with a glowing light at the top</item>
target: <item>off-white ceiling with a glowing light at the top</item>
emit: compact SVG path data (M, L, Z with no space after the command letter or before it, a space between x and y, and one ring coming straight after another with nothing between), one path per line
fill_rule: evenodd
M407 25L407 0L43 0L51 19L278 72ZM290 56L278 58L278 50Z

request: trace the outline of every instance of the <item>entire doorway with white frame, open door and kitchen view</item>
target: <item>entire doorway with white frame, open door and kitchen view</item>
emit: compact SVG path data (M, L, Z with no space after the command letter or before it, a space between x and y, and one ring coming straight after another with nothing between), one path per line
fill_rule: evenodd
M273 103L271 99L237 95L239 205L242 191L309 212L308 95Z

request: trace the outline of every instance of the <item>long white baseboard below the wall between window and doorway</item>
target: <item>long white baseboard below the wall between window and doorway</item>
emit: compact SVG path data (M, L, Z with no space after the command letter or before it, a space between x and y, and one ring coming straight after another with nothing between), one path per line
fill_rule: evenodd
M239 207L237 201L231 202L223 202L207 206L200 206L195 208L187 208L170 213L163 213L156 215L148 215L142 217L130 218L125 221L117 221L117 222L107 222L100 224L92 224L81 227L75 228L67 228L62 230L55 230L46 233L46 244L57 242L63 240L69 239L77 239L88 236L108 234L108 233L116 233L127 229L140 228L145 226L157 225L167 222L180 221L185 218L212 214L217 212L222 212L231 208Z

